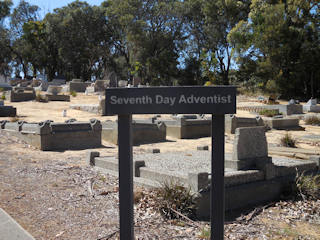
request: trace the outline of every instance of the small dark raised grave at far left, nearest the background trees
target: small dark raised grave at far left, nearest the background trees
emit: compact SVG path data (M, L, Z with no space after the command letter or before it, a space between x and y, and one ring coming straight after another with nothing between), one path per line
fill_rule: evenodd
M34 100L36 93L32 87L14 87L6 92L5 97L10 102L24 102Z

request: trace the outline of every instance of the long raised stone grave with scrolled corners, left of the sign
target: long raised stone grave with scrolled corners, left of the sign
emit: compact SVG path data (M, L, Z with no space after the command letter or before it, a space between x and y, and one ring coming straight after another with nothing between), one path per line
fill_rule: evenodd
M89 122L40 123L1 121L0 129L44 151L101 147L101 123Z

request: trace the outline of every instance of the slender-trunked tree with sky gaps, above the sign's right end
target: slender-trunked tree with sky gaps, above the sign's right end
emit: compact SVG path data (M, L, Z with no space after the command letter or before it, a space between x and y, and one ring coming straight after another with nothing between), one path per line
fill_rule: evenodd
M198 83L211 80L229 84L233 45L227 36L240 20L247 19L249 3L249 0L184 1L187 61L198 66L197 72L201 73Z

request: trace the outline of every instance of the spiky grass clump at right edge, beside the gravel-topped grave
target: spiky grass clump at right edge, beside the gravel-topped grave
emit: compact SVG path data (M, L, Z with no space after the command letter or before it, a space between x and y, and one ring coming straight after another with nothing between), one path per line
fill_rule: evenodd
M297 173L295 190L297 195L303 199L320 199L320 174L305 175L305 173Z

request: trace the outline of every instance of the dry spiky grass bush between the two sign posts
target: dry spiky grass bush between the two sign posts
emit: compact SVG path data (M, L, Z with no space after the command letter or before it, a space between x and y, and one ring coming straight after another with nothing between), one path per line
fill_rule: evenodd
M195 196L191 189L177 182L166 182L156 190L158 205L156 208L169 219L180 218L179 212L189 218L195 216Z

